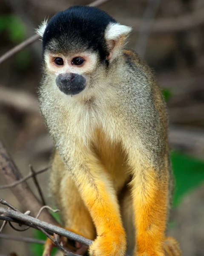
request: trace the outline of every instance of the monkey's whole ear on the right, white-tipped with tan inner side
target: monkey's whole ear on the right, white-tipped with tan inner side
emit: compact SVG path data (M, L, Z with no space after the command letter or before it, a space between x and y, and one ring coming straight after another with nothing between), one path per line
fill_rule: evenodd
M126 38L131 32L132 28L129 26L121 25L119 23L110 23L105 31L105 38L109 48L108 59L113 60L126 42Z

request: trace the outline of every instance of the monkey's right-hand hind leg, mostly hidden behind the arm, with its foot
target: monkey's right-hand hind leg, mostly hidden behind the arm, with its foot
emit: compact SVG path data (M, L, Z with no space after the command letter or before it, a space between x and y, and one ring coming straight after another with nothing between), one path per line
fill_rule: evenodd
M134 227L134 213L132 205L132 197L130 187L126 186L119 196L119 204L121 206L121 216L126 230L127 236L127 251L129 256L132 256L135 248L135 227ZM166 237L164 244L165 256L181 256L181 250L178 241L173 237Z

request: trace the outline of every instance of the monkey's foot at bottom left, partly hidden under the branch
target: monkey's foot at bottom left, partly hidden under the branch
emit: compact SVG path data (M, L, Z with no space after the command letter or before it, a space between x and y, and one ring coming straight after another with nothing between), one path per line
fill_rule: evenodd
M59 236L59 235L55 234L54 238L66 250L71 251L74 254L83 255L86 252L86 250L88 249L88 247L86 245L80 244L77 241L74 241L74 246L67 244L67 238L63 237L63 236ZM47 239L45 246L44 246L43 256L51 256L53 247L55 247L55 244L53 244L53 242L50 239Z

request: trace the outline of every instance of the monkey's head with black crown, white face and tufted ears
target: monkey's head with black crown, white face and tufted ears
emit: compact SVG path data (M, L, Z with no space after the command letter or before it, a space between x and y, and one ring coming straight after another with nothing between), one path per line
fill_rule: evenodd
M74 6L57 13L37 29L45 76L66 95L91 90L100 84L98 79L105 79L130 31L95 7Z

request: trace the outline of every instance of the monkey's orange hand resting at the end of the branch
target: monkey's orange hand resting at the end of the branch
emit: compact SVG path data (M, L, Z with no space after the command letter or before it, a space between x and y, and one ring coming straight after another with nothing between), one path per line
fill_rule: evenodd
M124 230L115 234L98 236L89 247L91 256L124 256L126 251L126 237Z

